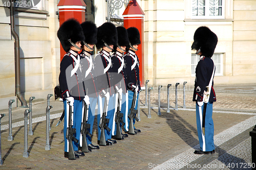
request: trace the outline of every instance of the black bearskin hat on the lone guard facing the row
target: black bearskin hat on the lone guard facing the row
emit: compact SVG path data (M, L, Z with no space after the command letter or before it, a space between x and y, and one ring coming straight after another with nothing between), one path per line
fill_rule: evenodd
M203 56L211 57L214 55L217 43L217 35L210 31L208 27L202 26L196 30L191 48L192 50L200 49Z

